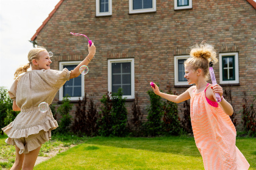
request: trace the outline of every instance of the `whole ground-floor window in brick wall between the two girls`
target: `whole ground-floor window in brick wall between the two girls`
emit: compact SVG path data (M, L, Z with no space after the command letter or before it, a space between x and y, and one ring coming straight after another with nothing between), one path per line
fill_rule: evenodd
M123 89L123 97L134 98L134 59L108 60L108 92Z

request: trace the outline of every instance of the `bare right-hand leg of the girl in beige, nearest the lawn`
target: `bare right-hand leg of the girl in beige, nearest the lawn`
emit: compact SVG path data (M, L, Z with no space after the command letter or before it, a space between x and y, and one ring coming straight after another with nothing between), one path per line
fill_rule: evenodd
M34 168L40 148L41 145L37 149L30 151L29 154L25 154L22 170L32 170Z

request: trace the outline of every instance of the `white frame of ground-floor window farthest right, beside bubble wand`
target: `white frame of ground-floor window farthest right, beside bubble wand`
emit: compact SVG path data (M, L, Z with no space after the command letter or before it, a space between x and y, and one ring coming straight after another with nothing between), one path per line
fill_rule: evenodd
M235 56L235 80L222 80L222 56ZM239 63L238 52L232 53L219 53L219 84L239 84Z

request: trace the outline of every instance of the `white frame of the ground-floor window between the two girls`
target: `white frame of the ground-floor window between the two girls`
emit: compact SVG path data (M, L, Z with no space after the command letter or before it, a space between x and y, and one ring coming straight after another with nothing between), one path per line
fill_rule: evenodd
M108 92L112 92L112 63L130 62L131 73L131 95L123 95L123 98L135 98L135 81L134 81L134 58L108 59Z

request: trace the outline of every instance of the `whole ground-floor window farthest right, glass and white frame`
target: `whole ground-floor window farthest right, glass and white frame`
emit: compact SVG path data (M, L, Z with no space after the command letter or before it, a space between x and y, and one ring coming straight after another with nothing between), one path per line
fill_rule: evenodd
M219 53L219 83L239 83L238 53Z

